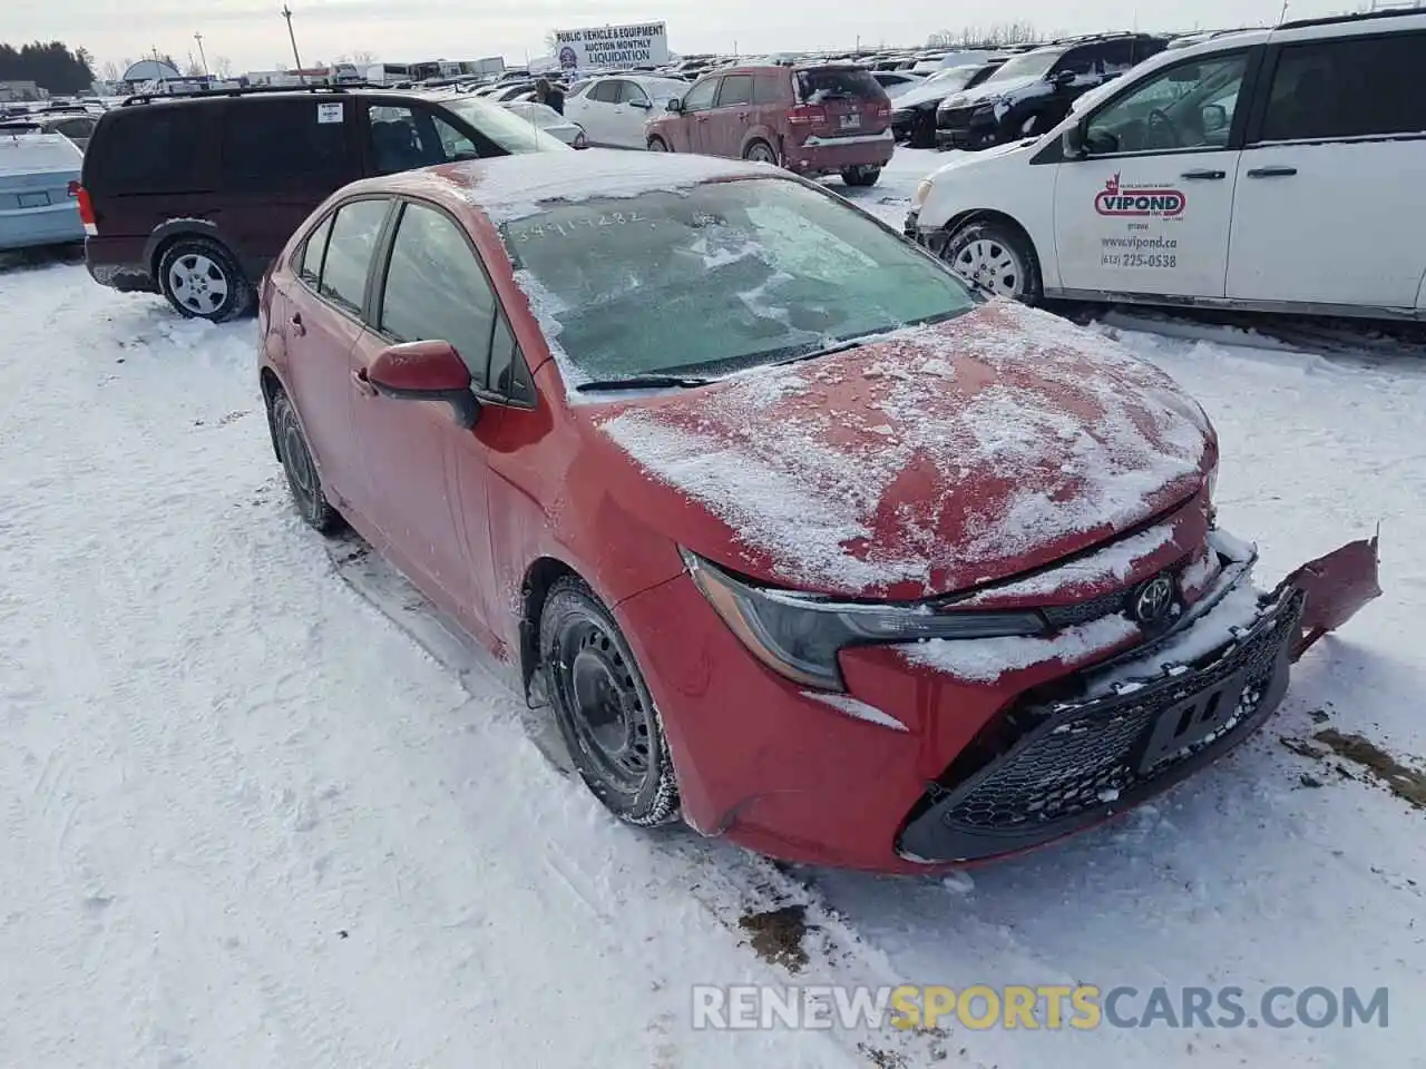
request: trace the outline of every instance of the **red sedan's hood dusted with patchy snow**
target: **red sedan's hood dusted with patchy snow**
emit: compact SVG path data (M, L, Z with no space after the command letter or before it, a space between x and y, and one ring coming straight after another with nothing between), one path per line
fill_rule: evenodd
M1172 379L1010 302L590 415L629 513L756 580L847 597L1041 567L1175 507L1216 463Z

